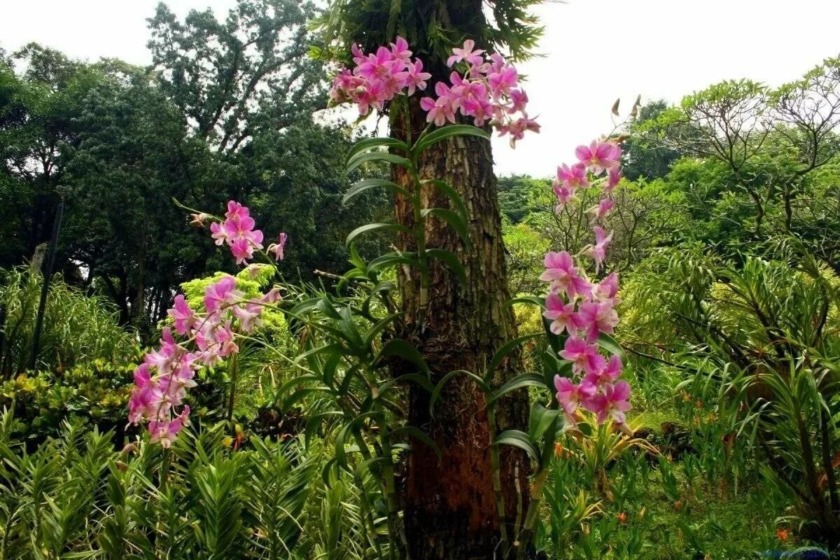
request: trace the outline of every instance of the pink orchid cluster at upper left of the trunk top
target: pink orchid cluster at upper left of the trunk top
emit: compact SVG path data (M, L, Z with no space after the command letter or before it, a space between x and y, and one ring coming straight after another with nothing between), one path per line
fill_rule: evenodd
M412 60L412 51L402 37L397 37L390 49L383 46L375 54L365 55L358 44L351 52L355 67L335 77L329 97L336 103L354 102L361 115L370 109L381 111L402 92L412 95L426 89L426 81L432 77L423 71L423 60Z

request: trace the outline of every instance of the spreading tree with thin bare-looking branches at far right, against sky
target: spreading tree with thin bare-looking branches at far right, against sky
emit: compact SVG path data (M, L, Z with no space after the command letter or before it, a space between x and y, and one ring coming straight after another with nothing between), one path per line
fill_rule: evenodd
M738 206L750 216L738 220L742 232L732 243L767 243L778 225L811 247L832 248L822 237L809 238L807 224L794 218L810 177L840 150L838 126L840 59L833 58L776 90L748 80L711 86L641 128L656 133L662 146L722 165L722 190L733 203L746 196ZM824 252L815 255L837 266Z

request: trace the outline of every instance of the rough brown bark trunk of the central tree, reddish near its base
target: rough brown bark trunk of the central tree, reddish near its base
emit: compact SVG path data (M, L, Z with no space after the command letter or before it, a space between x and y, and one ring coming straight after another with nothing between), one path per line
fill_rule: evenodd
M391 135L406 139L410 120L412 139L425 128L425 114L417 97L405 109L391 109ZM426 224L428 248L454 251L466 270L466 282L459 283L449 268L430 263L431 285L425 321L418 313L419 278L416 270L399 271L403 309L406 311L402 337L415 344L432 370L433 383L445 374L465 369L484 374L486 365L503 343L516 336L507 288L505 249L501 218L496 200L490 143L476 137L449 139L428 149L418 161L421 178L448 182L464 199L470 214L470 241L465 251L452 228L437 219ZM396 168L393 180L412 189L405 170ZM425 207L450 207L438 191L423 192ZM396 220L412 227L410 201L396 200ZM413 251L413 240L403 238L401 249ZM503 364L498 379L512 376L518 359ZM500 429L523 427L528 414L528 396L508 399L498 407ZM501 558L499 516L493 492L489 443L495 432L489 426L485 397L475 383L463 376L446 386L441 400L429 415L429 395L412 387L408 422L419 427L438 444L442 458L422 442L412 442L407 466L405 524L408 553L412 560L432 558ZM517 502L528 507L528 463L513 449L502 450L502 489L509 522L516 518ZM515 477L518 480L515 482ZM521 495L518 495L518 490ZM522 514L523 515L523 514ZM508 527L511 542L517 531Z

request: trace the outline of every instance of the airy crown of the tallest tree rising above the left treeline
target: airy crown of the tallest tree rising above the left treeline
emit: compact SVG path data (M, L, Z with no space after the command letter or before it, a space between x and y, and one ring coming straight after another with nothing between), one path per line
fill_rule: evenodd
M307 56L314 4L239 0L228 18L165 3L149 19L149 49L164 91L198 137L234 152L257 128L281 130L326 106L322 63Z

